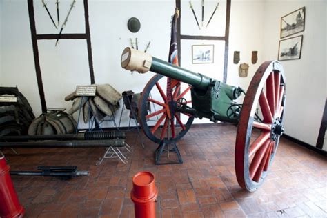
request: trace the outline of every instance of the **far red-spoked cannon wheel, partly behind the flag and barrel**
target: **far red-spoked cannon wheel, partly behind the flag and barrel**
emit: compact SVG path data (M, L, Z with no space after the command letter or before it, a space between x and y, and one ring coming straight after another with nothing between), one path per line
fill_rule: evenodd
M188 132L194 117L176 112L177 105L191 106L190 86L175 79L155 75L148 81L139 100L139 121L144 134L155 143L176 141Z

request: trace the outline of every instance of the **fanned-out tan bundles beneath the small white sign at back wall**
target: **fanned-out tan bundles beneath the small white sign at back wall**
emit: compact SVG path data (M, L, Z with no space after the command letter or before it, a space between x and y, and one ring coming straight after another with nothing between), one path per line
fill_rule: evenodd
M109 84L94 86L97 86L94 97L79 97L75 95L76 92L65 97L65 101L73 101L68 114L72 115L81 109L84 123L88 123L92 117L97 121L103 121L104 117L115 115L119 108L119 100L122 98L121 94Z

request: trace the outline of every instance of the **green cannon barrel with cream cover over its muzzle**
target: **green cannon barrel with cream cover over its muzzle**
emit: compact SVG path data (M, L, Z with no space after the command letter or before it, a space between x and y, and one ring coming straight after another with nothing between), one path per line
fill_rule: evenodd
M125 48L123 50L123 54L121 55L121 67L139 73L148 71L157 72L160 75L177 79L195 88L204 90L208 88L212 81L210 77L172 65L171 63L152 57L150 54L132 48Z

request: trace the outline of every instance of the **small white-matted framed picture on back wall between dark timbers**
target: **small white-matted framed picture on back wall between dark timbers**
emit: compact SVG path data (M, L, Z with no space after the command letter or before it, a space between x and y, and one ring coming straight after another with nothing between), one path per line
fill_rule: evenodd
M214 45L193 45L192 63L213 63Z

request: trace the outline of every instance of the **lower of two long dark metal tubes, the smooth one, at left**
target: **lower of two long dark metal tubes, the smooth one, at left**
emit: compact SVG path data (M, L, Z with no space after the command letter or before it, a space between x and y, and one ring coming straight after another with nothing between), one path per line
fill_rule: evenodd
M98 148L123 147L124 139L75 141L17 141L0 142L0 148Z

